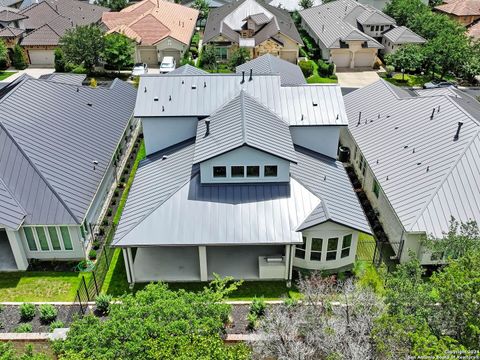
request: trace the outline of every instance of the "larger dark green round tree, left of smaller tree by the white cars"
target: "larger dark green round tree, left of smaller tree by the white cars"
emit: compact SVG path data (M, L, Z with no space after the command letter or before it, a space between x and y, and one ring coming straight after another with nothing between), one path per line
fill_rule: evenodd
M77 26L69 29L60 39L65 60L83 65L87 71L98 63L105 45L103 31L98 25Z

